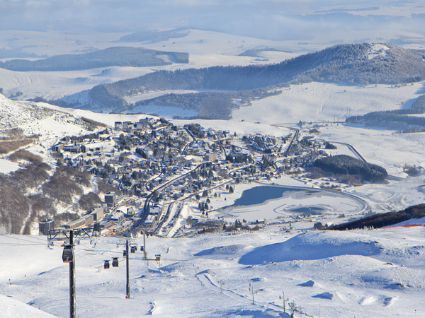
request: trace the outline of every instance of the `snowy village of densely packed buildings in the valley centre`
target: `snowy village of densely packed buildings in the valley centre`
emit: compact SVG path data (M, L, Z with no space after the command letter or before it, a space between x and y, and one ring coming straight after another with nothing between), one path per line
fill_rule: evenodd
M310 139L297 141L293 137L286 144L290 136L253 134L241 138L229 131L205 130L200 126L194 133L190 127L176 126L165 119L115 122L114 128L103 132L98 141L93 140L96 136L80 138L78 142L72 138L74 143L62 141L52 146L52 151L69 153L67 159L73 165L79 163L82 169L98 175L127 196L145 197L155 191L153 202L159 206L164 201L198 196L236 178L276 176L308 164L323 147L319 141ZM134 216L134 211L115 208L114 193L106 194L104 199L104 206L96 206L66 227L96 226L103 230ZM153 206L143 222L149 226L161 216L162 209ZM48 221L40 223L40 232L51 226Z

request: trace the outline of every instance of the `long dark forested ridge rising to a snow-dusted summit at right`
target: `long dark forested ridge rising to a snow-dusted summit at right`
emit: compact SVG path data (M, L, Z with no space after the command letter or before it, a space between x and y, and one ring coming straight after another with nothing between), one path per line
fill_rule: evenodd
M156 71L137 78L101 84L89 90L89 100L84 101L84 107L93 105L97 110L113 112L128 110L131 105L124 97L159 90L249 91L261 88L261 93L264 93L276 90L276 87L311 81L365 85L412 83L423 78L425 56L421 52L390 44L336 45L278 64ZM191 104L191 98L199 100L196 93L191 94L186 100L186 107L198 107L196 103ZM168 105L172 104L168 98ZM66 106L63 102L61 105ZM72 105L79 106L78 103ZM229 108L233 106L227 105Z

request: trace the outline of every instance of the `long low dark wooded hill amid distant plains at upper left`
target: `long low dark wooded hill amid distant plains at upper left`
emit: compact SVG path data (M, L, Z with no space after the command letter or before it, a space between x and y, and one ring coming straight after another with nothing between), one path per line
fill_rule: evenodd
M172 63L188 63L189 54L163 52L137 47L109 47L84 54L64 54L47 59L30 61L12 59L1 62L2 69L11 71L74 71L108 66L162 66Z

